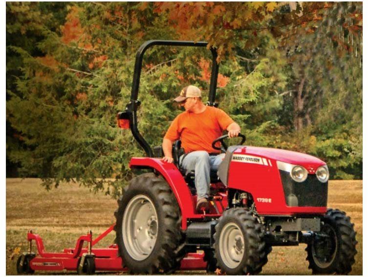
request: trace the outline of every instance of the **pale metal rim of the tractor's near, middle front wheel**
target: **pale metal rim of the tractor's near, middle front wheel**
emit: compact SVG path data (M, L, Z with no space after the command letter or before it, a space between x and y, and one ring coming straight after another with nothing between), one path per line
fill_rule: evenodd
M242 231L235 223L227 223L220 232L219 252L222 261L229 268L236 268L245 249Z

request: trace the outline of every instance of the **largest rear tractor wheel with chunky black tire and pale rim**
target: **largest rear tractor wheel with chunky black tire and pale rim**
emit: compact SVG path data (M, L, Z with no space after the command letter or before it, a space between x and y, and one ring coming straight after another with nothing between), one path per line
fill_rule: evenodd
M137 199L138 204L135 204L135 199ZM143 199L142 202L139 202L140 199ZM150 212L153 214L156 212L156 216L151 217L152 221L148 222L147 226L152 222L156 222L156 225L145 227L148 230L144 229L145 233L149 232L150 237L151 235L154 237L150 241L152 243L150 249L144 249L149 252L144 258L146 253L139 252L142 248L137 247L137 245L141 246L141 244L136 242L139 241L137 237L141 234L134 233L140 231L140 228L135 231L136 225L134 224L136 223L129 225L130 220L127 219L130 218L131 214L134 214L129 209L139 210L140 208L136 208L136 206L140 203L142 206L149 203L147 205L151 207ZM126 212L128 205L130 206ZM177 200L167 182L161 176L156 176L153 173L139 175L131 180L128 189L125 189L123 196L118 200L118 206L114 213L116 217L115 231L123 266L129 268L131 273L141 274L169 273L178 269L181 259L185 255L184 234L181 230L182 217ZM137 214L139 213L137 212ZM130 228L126 228L126 226L130 226ZM122 230L122 227L126 230ZM131 236L130 232L132 231L128 232L127 230L133 230L134 235ZM124 234L126 234L126 241L131 243L125 244Z

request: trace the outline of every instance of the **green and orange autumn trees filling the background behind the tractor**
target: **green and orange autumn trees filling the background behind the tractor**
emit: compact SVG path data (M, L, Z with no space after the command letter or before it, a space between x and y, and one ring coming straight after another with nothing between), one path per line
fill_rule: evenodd
M138 47L163 39L217 48L216 101L249 145L362 178L360 2L7 2L6 18L7 174L119 194L130 157L144 154L116 113ZM209 49L145 53L137 120L151 146L180 112L174 96L190 84L207 92L210 76Z

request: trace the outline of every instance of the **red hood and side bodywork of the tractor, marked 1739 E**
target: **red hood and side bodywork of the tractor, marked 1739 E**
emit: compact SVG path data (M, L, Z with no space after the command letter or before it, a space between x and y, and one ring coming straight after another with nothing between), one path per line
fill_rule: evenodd
M264 155L263 150L265 150ZM299 213L325 213L326 207L288 207L285 203L284 191L277 162L272 157L290 154L292 159L301 158L300 161L291 162L300 165L313 165L314 167L325 164L317 158L291 151L274 151L280 149L269 149L262 147L244 147L237 149L234 154L248 155L264 158L262 163L247 163L233 160L229 168L229 188L240 189L252 194L255 206L262 215L293 215ZM277 154L276 154L277 153ZM293 154L291 154L293 153ZM279 157L279 160L282 158ZM262 160L261 160L262 161ZM265 162L266 161L266 162ZM287 161L287 159L284 159ZM320 163L318 163L320 161Z

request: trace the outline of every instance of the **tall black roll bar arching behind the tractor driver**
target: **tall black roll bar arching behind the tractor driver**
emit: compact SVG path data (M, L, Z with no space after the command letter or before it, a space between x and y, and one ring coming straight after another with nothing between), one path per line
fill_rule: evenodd
M141 147L145 150L146 155L148 157L153 157L152 149L147 141L141 136L137 128L137 108L141 104L141 102L137 99L138 90L140 86L140 77L141 77L141 69L142 69L142 61L144 54L148 48L155 45L162 46L192 46L192 47L206 47L208 45L207 42L193 42L193 41L167 41L167 40L150 40L143 43L136 53L136 61L134 64L134 73L133 73L133 83L132 90L130 94L130 102L126 106L126 111L124 113L118 114L119 119L129 118L130 120L130 130L132 132L133 137L137 140L137 142L141 145ZM210 48L213 58L212 58L212 74L210 79L210 90L209 90L209 106L217 106L215 102L216 90L217 90L217 77L218 77L218 69L219 65L217 63L217 49Z

